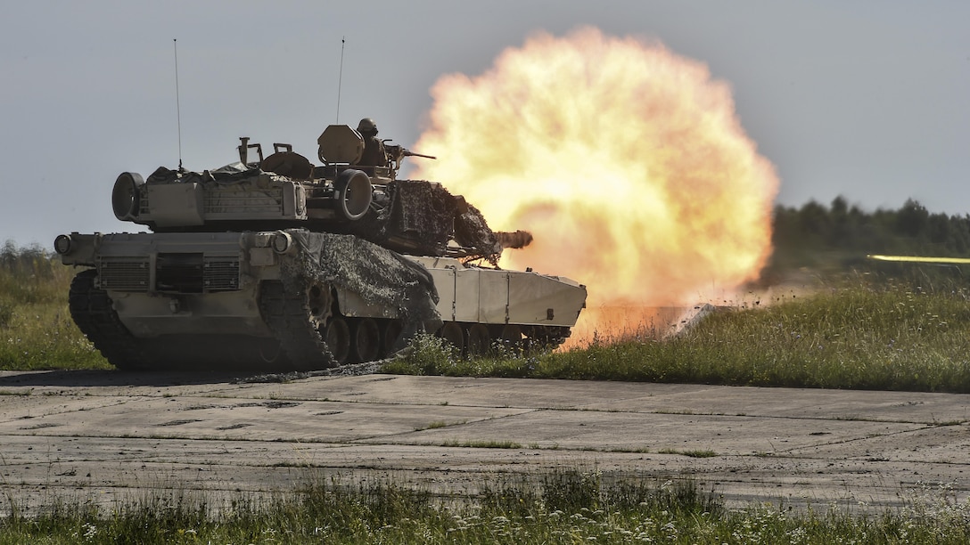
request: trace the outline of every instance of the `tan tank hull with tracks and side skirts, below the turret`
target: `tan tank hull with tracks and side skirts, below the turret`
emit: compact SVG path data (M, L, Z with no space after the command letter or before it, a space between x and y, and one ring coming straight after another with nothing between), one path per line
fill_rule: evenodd
M301 229L72 234L81 331L122 369L320 369L436 332L463 351L556 345L585 305L567 278L406 256Z

